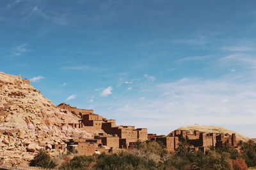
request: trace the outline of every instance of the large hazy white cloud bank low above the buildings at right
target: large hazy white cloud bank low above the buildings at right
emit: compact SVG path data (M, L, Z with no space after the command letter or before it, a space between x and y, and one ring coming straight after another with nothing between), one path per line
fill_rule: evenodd
M177 128L193 124L221 125L230 129L246 125L255 129L255 84L255 81L237 82L225 78L184 78L151 85L149 88L154 89L151 94L154 97L147 100L144 97L128 99L120 103L116 110L112 110L111 114L119 114L120 118L116 119L120 121L141 120L135 125L143 127L143 124L147 124L149 129L159 128L159 132L164 134L173 131L174 126ZM164 126L162 129L161 125ZM247 135L256 136L256 132Z

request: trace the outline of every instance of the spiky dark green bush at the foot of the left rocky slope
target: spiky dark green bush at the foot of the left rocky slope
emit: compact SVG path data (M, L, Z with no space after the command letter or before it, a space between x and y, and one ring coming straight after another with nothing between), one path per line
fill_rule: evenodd
M37 166L44 168L54 168L58 166L54 160L51 159L50 155L45 150L39 150L35 155L34 159L31 160L29 166Z

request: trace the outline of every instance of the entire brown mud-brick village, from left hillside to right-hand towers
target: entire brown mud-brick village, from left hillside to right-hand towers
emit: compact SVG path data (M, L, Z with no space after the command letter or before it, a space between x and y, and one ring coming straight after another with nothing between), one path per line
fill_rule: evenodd
M134 126L116 125L113 119L103 118L93 110L81 110L68 104L61 103L59 108L71 111L81 118L77 124L68 124L72 128L93 131L93 139L70 139L65 144L52 145L54 149L67 150L72 153L92 155L93 153L111 152L118 148L131 148L138 141L157 141L163 143L168 152L174 152L180 145L182 138L195 150L205 151L209 146L220 147L223 143L237 146L236 134L207 134L194 131L173 131L168 136L148 134L146 128L135 129ZM64 124L63 124L64 125Z

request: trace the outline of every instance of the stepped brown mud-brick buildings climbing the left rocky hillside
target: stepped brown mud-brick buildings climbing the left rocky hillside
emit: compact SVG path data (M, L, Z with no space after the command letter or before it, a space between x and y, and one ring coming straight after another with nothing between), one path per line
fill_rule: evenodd
M93 113L93 110L81 110L69 104L61 103L59 108L71 111L81 118L77 124L63 124L73 128L95 132L93 139L70 139L63 145L52 148L68 150L73 153L92 155L92 153L109 152L117 148L129 148L131 143L147 141L146 128L135 129L134 126L116 125L113 119L106 119Z

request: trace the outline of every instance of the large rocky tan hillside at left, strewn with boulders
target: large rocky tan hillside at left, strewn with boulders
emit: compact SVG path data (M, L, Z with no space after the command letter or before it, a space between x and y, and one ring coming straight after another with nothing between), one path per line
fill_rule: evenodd
M92 134L65 125L79 118L61 110L20 76L0 73L0 157L29 160L33 152Z

